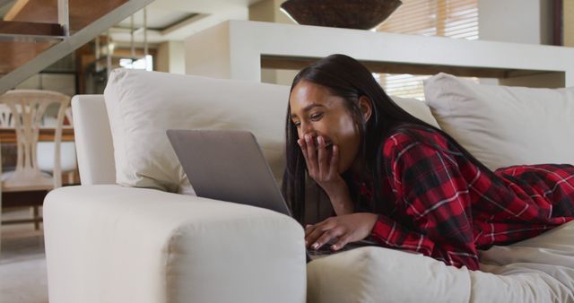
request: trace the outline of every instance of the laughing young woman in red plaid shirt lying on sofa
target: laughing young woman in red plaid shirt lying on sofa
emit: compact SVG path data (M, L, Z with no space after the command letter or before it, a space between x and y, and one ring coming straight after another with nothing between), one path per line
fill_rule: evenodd
M477 249L531 238L574 219L574 167L491 171L448 134L408 114L369 70L332 55L291 85L283 195L301 223L305 180L335 216L305 230L310 248L372 238L478 269Z

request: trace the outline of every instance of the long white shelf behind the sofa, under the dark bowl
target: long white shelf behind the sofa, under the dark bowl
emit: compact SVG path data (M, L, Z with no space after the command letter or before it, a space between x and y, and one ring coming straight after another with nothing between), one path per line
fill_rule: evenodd
M260 82L262 66L299 69L340 53L380 73L446 72L515 85L574 86L574 48L245 21L222 22L185 44L186 74L245 81Z

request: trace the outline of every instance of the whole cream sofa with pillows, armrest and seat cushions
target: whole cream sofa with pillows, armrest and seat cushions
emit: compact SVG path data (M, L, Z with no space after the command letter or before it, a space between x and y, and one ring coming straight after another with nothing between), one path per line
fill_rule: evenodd
M520 90L439 74L427 82L431 108L418 100L396 101L467 139L465 146L492 168L512 161L574 163L574 148L564 151L572 143L557 139L574 129L574 93ZM75 96L82 186L59 188L45 200L49 301L574 301L573 224L493 247L482 253L477 272L383 247L306 264L303 229L293 219L189 195L192 186L170 152L165 129L250 130L279 177L288 93L278 85L117 70L105 100ZM541 112L529 99L536 93L556 101ZM513 103L521 98L526 108ZM469 107L473 111L464 112ZM509 126L504 107L537 118ZM536 137L524 131L544 132L541 126L562 133ZM503 153L496 152L500 144ZM534 151L528 144L547 149Z

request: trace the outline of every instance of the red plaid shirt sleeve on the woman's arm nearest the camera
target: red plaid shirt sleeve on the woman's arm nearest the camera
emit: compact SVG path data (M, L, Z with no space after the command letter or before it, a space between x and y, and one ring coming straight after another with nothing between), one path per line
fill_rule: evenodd
M452 155L404 133L390 136L383 153L396 215L380 215L372 237L477 270L468 186Z

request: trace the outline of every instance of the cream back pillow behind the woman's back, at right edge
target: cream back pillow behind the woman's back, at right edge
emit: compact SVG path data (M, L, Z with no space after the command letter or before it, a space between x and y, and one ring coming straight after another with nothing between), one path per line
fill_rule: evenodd
M574 164L574 88L482 85L450 74L424 82L440 127L490 169Z

